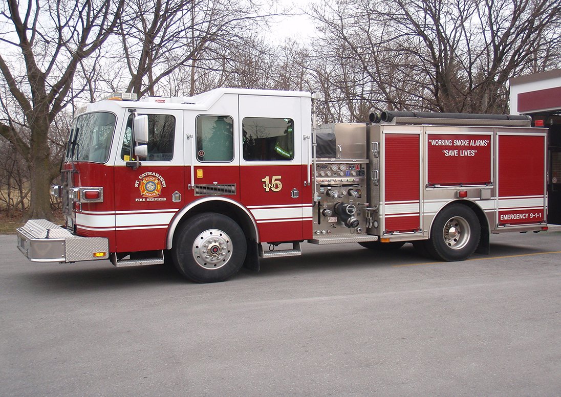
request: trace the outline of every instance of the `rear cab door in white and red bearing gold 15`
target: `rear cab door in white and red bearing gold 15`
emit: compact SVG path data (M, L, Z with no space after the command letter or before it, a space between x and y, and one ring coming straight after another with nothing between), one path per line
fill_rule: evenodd
M260 242L303 239L301 108L299 97L239 98L241 201L255 218Z

